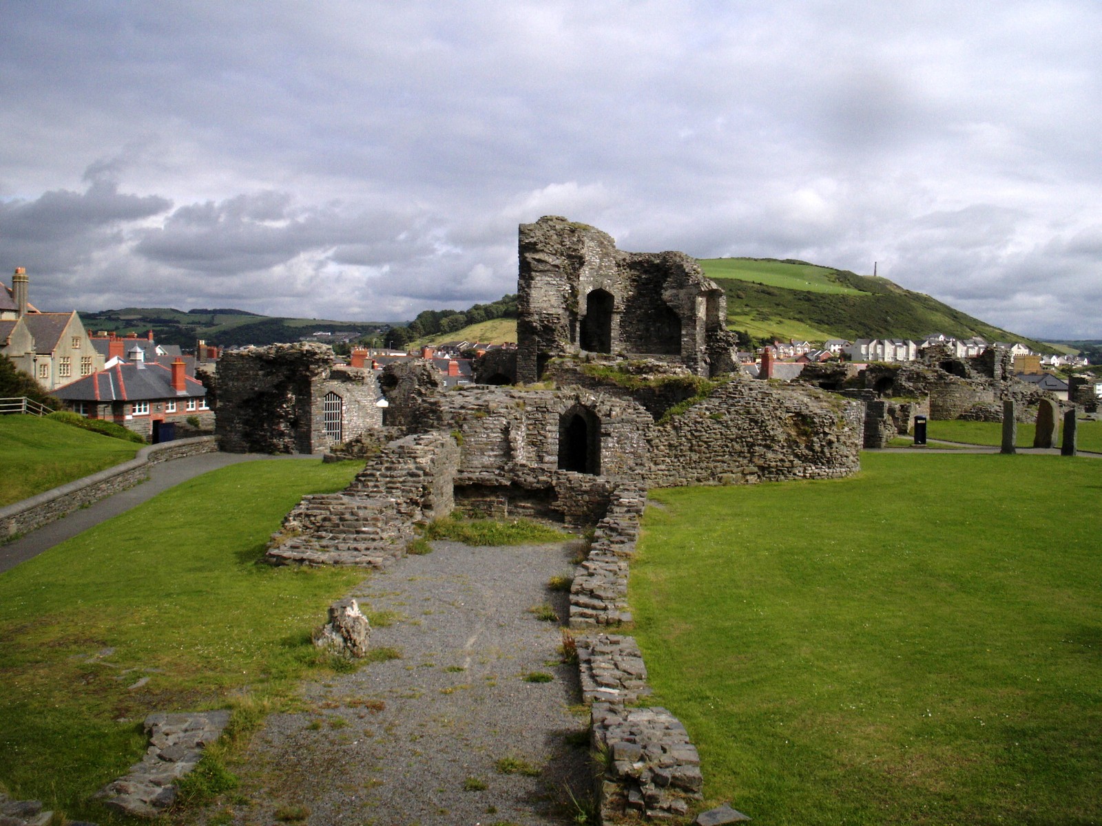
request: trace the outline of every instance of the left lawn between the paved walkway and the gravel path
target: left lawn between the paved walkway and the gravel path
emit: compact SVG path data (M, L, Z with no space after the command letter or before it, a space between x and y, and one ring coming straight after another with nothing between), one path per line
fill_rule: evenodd
M85 801L140 759L148 714L292 696L317 664L311 629L364 574L256 562L301 496L339 490L359 467L235 465L0 574L8 791L115 823Z

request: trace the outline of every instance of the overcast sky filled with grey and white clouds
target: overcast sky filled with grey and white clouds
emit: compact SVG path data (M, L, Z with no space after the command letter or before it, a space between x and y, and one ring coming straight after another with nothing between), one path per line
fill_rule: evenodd
M1102 338L1098 0L0 0L0 117L40 308L464 308L551 214Z

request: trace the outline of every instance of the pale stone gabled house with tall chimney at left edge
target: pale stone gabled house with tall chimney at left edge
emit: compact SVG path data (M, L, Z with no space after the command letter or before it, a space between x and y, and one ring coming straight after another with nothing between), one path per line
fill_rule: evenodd
M0 284L0 352L52 391L104 368L104 357L88 340L76 311L42 313L29 301L26 271L20 267L11 286Z

